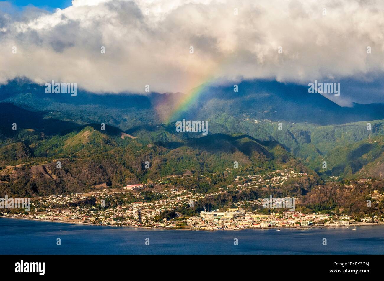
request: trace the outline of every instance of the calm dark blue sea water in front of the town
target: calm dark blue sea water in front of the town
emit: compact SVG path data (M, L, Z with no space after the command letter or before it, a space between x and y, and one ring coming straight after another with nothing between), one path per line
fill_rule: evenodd
M0 245L3 254L384 254L384 225L183 231L0 218Z

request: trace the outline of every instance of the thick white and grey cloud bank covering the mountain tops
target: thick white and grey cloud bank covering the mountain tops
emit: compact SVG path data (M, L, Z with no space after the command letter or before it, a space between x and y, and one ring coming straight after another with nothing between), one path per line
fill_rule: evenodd
M383 12L359 0L73 0L54 13L0 12L0 83L144 93L214 79L368 79L384 70Z

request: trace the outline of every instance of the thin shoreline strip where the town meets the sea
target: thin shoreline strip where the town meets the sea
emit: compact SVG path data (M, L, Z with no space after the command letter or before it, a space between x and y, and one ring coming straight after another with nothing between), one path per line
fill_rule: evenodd
M350 226L367 226L367 225L384 225L384 223L372 223L372 222L363 222L363 223L354 223L350 225L338 225L338 226L329 226L329 225L321 225L316 226L312 225L309 227L249 227L249 228L239 228L239 229L233 229L233 228L225 228L225 229L191 229L191 228L169 228L169 227L136 227L136 226L130 226L130 225L102 225L102 224L89 224L89 223L80 223L80 222L69 222L69 221L63 221L63 220L38 220L38 219L30 219L30 218L21 218L21 217L8 217L8 216L0 216L1 218L8 218L8 219L21 219L21 220L33 220L37 222L58 222L58 223L70 223L70 224L76 224L76 225L90 225L90 226L102 226L102 227L130 227L130 228L144 228L144 229L162 229L162 230L187 230L187 231L222 231L222 230L268 230L268 229L296 229L296 230L310 230L311 228L344 228L344 227L350 227Z

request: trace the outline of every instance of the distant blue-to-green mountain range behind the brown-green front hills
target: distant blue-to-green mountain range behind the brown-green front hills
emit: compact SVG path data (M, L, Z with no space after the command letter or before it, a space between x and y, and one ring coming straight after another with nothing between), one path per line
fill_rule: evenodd
M47 133L71 129L75 124L105 123L148 141L176 141L175 135L197 135L176 133L174 122L183 118L205 120L209 122L210 133L247 134L259 140L277 140L304 160L324 154L336 145L363 140L368 133L383 133L382 104L341 107L320 94L309 94L308 87L276 81L244 81L238 84L238 92L233 92L233 86L202 85L200 88L189 106L183 107L184 111L175 110L185 99L182 93L117 95L79 90L76 97L71 97L46 94L45 87L23 79L2 85L0 101L6 112L13 112L12 108L5 108L12 105L33 112L29 120L19 123L28 124L36 118L46 120L40 125L28 126L46 127ZM171 118L164 124L166 115ZM4 113L2 118L8 124L25 116L26 112ZM47 124L49 120L60 122L55 121L58 122L55 126ZM366 130L368 121L372 123L371 132ZM281 131L279 123L283 125Z

